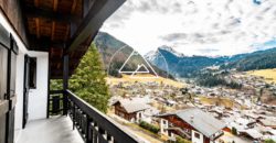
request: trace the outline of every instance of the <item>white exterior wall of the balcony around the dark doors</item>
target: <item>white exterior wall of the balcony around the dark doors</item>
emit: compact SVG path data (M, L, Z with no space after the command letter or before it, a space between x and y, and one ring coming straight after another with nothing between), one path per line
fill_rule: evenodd
M47 53L45 52L29 52L25 45L20 40L19 35L13 31L12 26L0 12L0 23L10 32L15 40L19 54L17 56L17 81L15 81L15 141L19 131L22 129L23 114L23 80L24 80L24 55L36 57L36 89L31 89L29 94L29 121L46 118L47 102Z

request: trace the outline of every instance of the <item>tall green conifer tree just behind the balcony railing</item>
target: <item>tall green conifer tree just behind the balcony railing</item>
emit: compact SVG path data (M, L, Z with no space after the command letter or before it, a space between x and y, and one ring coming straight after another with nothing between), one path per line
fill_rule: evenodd
M70 89L98 110L106 112L110 95L105 77L99 53L92 44L70 79Z

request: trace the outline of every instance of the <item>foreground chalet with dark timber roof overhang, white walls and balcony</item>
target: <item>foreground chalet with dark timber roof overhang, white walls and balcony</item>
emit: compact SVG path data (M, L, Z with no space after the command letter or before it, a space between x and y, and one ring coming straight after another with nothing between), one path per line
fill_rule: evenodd
M0 0L0 143L139 142L68 89L98 30L124 2ZM63 89L50 90L51 79L62 79Z

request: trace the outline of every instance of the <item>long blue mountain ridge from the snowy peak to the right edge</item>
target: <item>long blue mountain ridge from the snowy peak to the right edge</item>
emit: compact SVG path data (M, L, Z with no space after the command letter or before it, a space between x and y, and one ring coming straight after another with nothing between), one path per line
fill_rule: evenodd
M276 47L252 53L217 57L200 55L184 56L183 54L178 56L177 54L173 54L170 48L157 48L155 55L146 54L145 57L147 57L153 65L162 69L163 65L160 65L158 62L162 56L168 63L170 69L169 73L176 77L191 77L194 73L210 66L220 66L221 69L236 69L241 72L276 67L276 62L273 59L276 58Z

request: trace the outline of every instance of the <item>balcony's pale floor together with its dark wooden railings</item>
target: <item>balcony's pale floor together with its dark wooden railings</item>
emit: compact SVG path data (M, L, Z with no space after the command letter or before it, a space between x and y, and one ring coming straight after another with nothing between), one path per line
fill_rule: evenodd
M18 143L142 142L70 90L51 91L51 97L50 114L55 116L29 122Z

